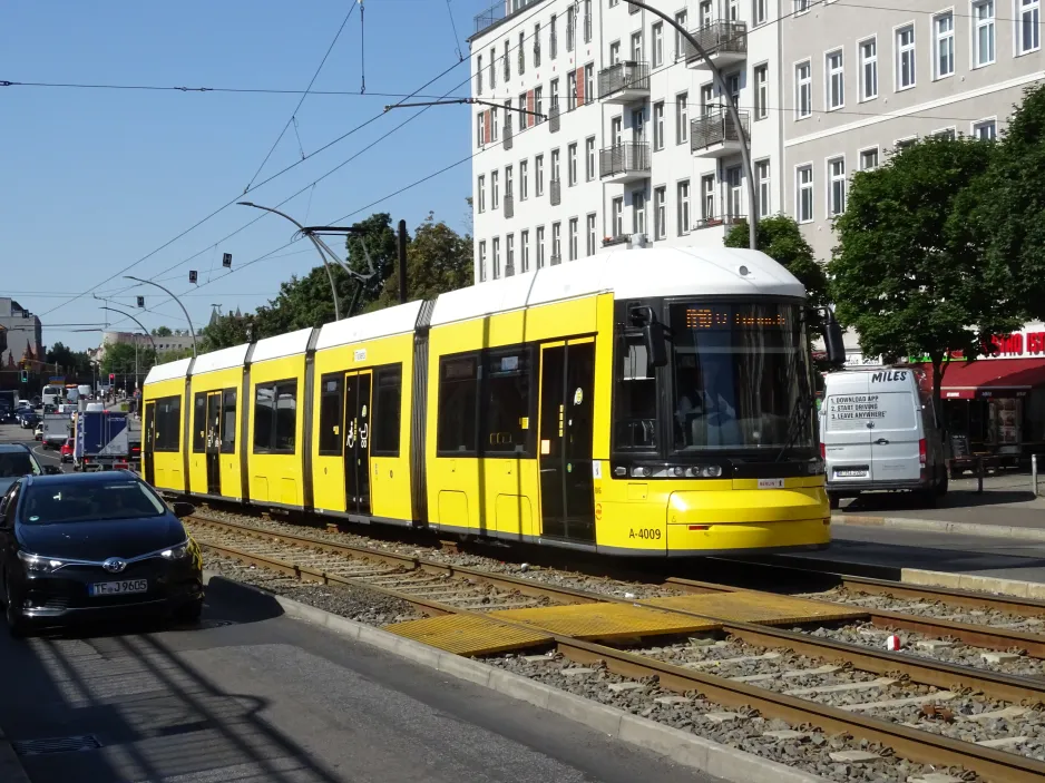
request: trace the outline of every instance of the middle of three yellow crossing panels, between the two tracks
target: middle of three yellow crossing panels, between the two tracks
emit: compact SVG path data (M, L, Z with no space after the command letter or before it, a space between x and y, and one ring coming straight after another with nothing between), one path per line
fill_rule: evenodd
M489 616L576 639L688 634L716 630L720 627L711 620L631 604L569 604L534 609L502 609L491 611Z

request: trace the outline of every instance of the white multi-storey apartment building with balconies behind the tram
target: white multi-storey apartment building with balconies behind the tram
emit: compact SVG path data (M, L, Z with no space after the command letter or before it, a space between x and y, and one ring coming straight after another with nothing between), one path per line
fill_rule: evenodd
M779 212L778 0L658 0L672 26L626 0L502 0L469 39L476 282L623 243L721 246L752 209Z

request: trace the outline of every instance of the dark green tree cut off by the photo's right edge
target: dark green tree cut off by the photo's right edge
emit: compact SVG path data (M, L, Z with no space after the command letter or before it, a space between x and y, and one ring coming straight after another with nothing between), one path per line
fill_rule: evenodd
M1007 274L985 280L992 294L1028 319L1045 317L1045 87L1028 88L990 166L963 194L966 238L981 245L990 266Z

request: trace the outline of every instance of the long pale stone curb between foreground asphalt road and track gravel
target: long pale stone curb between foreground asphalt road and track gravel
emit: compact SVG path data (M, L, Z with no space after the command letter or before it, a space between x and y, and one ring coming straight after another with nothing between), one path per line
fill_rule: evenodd
M214 576L221 575L205 571L204 580L209 581ZM673 762L714 775L723 781L730 783L824 783L824 779L818 775L793 770L779 762L721 745L695 734L632 715L623 709L598 704L583 696L575 696L522 675L452 653L445 653L420 642L316 609L307 604L284 598L252 585L242 583L236 583L236 585L258 593L270 600L275 600L287 617L322 626L340 636L346 636L400 658L475 685L481 685L509 698L533 704L594 728L611 738L666 756Z

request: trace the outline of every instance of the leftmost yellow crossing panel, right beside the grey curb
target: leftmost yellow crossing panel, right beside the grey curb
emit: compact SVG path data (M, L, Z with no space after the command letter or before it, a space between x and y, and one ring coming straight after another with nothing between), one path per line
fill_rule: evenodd
M535 647L551 639L539 630L498 623L488 615L441 615L392 623L384 629L456 655L507 653Z

